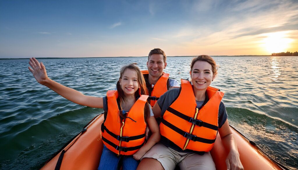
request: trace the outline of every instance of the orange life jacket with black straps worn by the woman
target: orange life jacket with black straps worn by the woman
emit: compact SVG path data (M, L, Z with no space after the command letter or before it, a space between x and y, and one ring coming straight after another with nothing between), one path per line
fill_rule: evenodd
M188 152L209 152L218 132L218 109L224 93L206 89L209 101L196 108L193 87L181 79L178 98L167 108L160 124L162 139Z

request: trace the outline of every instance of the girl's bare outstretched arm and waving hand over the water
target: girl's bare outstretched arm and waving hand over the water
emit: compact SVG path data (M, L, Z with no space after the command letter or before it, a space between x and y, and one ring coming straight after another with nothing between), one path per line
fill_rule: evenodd
M47 76L44 64L39 63L34 57L30 58L29 65L32 68L28 67L28 69L31 71L36 81L41 85L45 85L46 87L58 93L60 96L79 105L103 108L102 97L86 96L75 89L68 88L55 82Z

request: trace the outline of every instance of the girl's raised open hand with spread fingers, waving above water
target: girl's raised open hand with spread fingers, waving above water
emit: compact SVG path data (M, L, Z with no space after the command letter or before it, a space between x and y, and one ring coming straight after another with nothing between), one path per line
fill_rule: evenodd
M36 81L44 85L45 80L48 78L44 64L42 62L39 63L34 57L32 57L30 58L29 65L32 68L28 67L28 69L31 71Z

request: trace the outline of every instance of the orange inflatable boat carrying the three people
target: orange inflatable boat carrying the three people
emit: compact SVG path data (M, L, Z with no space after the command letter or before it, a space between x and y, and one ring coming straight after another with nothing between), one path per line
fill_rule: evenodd
M41 170L96 170L103 150L101 124L103 114L96 116L84 129L49 159ZM272 160L258 146L231 127L237 142L240 160L245 170L286 170L285 166ZM219 135L219 134L218 134ZM211 150L216 169L226 170L227 152L218 136Z

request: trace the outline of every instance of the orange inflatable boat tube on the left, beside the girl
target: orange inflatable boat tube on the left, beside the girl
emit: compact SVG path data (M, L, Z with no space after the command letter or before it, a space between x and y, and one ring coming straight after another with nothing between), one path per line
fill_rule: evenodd
M96 170L99 165L100 155L103 152L103 142L101 140L103 120L103 114L96 116L82 132L64 146L55 157L47 161L41 169ZM63 151L65 152L64 155Z

